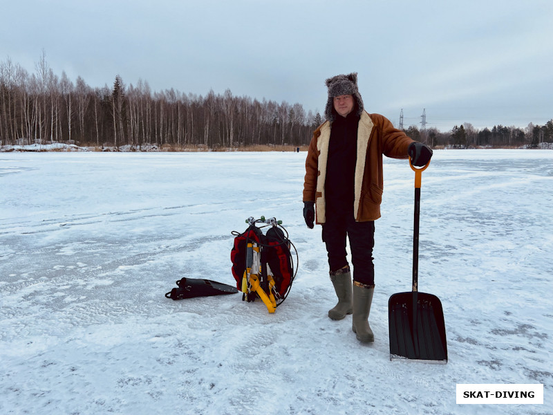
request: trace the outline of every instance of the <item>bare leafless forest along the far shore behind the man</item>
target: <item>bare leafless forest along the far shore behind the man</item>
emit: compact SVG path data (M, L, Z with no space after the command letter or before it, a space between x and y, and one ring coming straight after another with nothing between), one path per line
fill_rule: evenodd
M223 95L151 91L148 82L92 88L65 72L53 73L43 52L28 73L8 58L0 62L0 145L67 142L82 146L205 147L308 145L324 118L288 104ZM435 128L404 130L432 147L520 147L553 142L553 120L526 129L494 126L477 130L465 123L446 133Z

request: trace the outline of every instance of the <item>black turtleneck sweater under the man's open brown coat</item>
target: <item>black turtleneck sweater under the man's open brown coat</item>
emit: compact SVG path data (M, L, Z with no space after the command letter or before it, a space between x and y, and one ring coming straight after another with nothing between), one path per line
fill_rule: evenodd
M338 115L330 126L325 180L328 219L353 214L358 125L359 115L352 111L347 117Z

